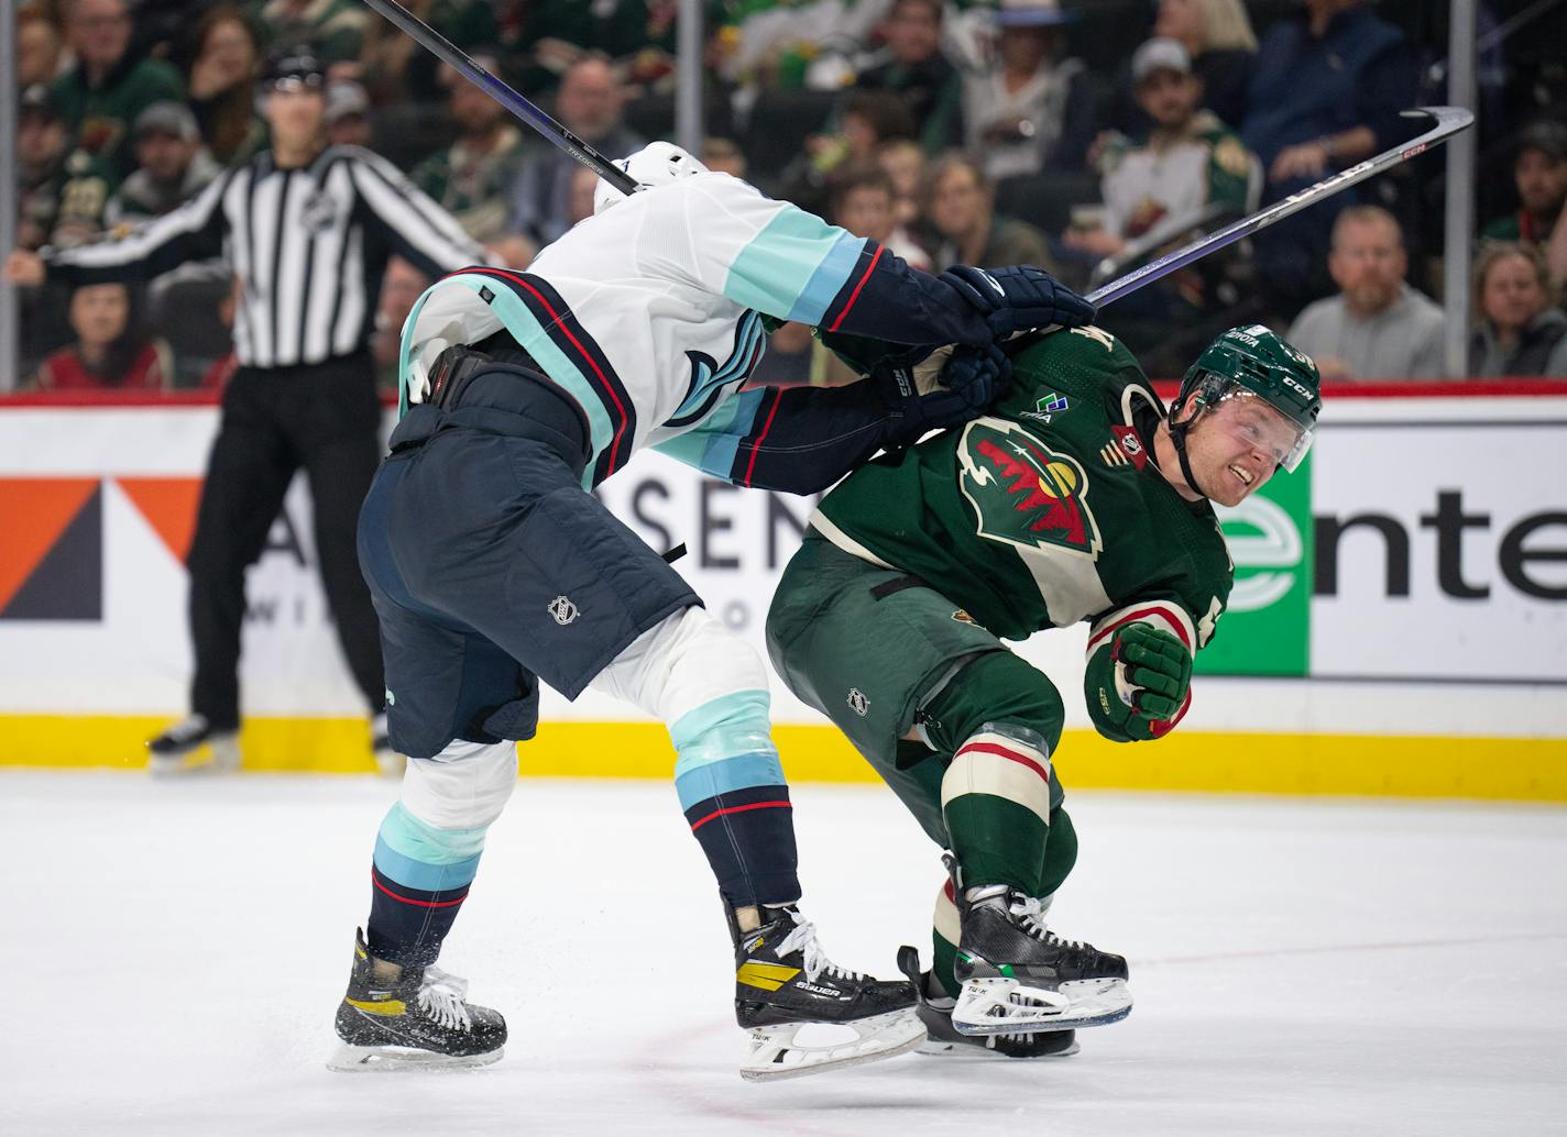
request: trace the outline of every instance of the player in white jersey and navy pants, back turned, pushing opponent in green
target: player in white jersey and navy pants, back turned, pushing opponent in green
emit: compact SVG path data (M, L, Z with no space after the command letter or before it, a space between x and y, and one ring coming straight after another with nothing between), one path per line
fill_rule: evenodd
M392 742L411 761L376 839L337 1068L500 1057L505 1020L434 962L516 783L541 681L569 698L611 692L669 727L675 791L735 944L746 1077L870 1062L925 1037L912 988L834 965L796 907L760 658L588 490L644 446L738 485L826 489L884 446L981 413L1006 379L998 338L1094 310L1028 266L915 273L664 143L622 166L641 193L600 183L595 216L528 271L448 276L404 326L404 415L359 558ZM851 387L744 390L768 318L909 351ZM939 381L912 366L942 345L959 348ZM581 885L570 863L553 871L564 904ZM804 1023L856 1037L798 1045Z

